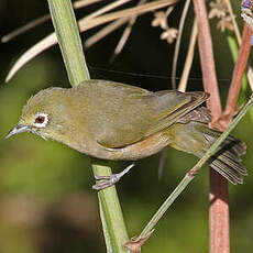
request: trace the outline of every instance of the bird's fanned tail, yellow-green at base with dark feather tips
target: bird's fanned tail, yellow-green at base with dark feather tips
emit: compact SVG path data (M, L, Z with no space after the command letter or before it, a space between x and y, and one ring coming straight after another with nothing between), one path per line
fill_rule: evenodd
M167 129L170 139L169 145L199 158L221 135L221 132L209 129L207 123L204 122L189 120L188 122L180 120L180 122ZM245 150L244 142L229 135L215 155L209 158L208 164L232 184L242 184L243 176L248 175L246 169L241 165L241 155L245 153Z

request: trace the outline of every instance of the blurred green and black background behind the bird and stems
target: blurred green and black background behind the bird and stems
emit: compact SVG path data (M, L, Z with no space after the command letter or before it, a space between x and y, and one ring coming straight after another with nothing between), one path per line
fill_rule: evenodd
M179 13L180 9L179 4L176 7L175 16L169 18L175 24L178 21L176 13ZM46 1L1 1L1 35L44 13L47 13ZM108 64L108 59L122 30L88 50L87 62L92 78L123 81L151 90L170 88L169 78L99 70L107 68L169 76L174 46L160 41L161 31L151 28L151 20L152 14L147 14L134 25L130 41L112 65ZM4 140L4 135L16 123L23 105L33 94L51 86L69 87L56 46L29 63L10 84L3 82L14 59L50 31L52 25L44 24L8 44L0 45L0 252L100 253L105 252L105 244L97 194L91 190L94 178L87 156L32 134L20 134ZM186 31L186 35L187 33L189 32ZM215 25L213 33L217 33ZM217 73L221 79L220 90L224 100L231 79L232 58L226 35L217 34ZM187 43L188 40L183 42L183 56ZM143 57L147 54L152 62ZM230 58L231 64L228 64ZM179 63L179 70L183 65L184 61ZM202 89L198 66L196 56L190 76L197 79L190 80L189 89ZM248 143L243 164L249 169L244 185L230 186L231 248L234 253L251 252L253 246L252 120L253 110L234 132L235 136ZM158 157L154 155L142 161L118 184L131 237L140 233L186 170L197 161L190 155L169 148L163 179L160 182ZM116 164L118 168L114 170L123 166L125 163ZM208 193L206 166L158 223L143 252L208 252Z

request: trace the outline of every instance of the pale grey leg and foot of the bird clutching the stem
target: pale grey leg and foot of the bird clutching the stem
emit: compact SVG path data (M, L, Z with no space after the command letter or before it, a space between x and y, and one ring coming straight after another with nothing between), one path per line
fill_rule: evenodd
M102 180L100 183L97 183L96 185L92 186L92 189L96 190L101 190L105 189L109 186L114 185L117 182L120 180L124 174L127 174L135 164L132 163L130 164L125 169L123 169L121 173L112 174L111 176L97 176L95 175L96 180Z

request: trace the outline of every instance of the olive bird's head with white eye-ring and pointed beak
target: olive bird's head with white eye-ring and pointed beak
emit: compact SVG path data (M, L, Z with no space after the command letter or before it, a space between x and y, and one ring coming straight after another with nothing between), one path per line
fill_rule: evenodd
M64 129L66 116L65 89L48 88L31 97L23 107L19 123L6 138L32 132L43 139L55 139Z

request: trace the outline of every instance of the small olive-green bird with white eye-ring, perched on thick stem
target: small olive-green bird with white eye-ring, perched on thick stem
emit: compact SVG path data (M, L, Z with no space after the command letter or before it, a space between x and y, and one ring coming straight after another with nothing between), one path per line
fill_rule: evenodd
M135 161L172 147L201 157L220 132L208 128L201 91L147 91L106 80L74 88L48 88L30 98L7 138L32 132L103 160ZM242 184L245 144L229 136L209 165L232 184Z

